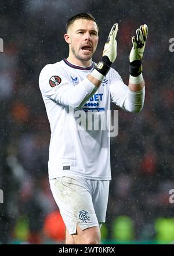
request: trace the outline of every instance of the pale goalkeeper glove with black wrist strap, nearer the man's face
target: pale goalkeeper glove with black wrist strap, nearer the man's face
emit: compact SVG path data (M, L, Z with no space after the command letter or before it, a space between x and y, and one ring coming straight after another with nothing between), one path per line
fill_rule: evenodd
M95 67L95 69L99 73L103 74L103 76L106 76L108 70L110 70L112 63L115 61L117 57L117 31L118 24L115 23L110 31L110 34L108 35L107 42L104 45L102 61L100 61Z

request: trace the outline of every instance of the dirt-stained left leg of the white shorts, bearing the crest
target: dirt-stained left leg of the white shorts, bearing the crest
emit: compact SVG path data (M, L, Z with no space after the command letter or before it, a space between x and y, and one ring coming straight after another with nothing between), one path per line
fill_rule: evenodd
M99 225L85 179L59 177L50 180L50 189L69 234L77 232L77 225L81 230Z

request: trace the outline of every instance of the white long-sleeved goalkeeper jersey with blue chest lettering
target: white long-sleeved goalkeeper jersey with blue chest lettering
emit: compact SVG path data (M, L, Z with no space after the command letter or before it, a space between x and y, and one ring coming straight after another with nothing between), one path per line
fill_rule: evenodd
M130 102L129 89L112 68L101 86L95 87L86 79L94 65L92 62L90 67L75 66L64 59L46 65L39 75L51 130L49 179L111 179L110 131L105 121L107 117L108 122L111 102L132 111L126 107L126 102ZM86 97L90 97L88 101Z

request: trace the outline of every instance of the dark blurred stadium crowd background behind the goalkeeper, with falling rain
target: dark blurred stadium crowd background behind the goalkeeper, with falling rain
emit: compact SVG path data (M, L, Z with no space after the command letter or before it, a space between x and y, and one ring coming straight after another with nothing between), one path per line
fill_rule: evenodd
M2 0L0 6L0 243L62 243L48 184L50 130L38 76L47 63L68 56L64 25L79 12L92 13L99 22L96 62L118 23L113 66L125 83L131 37L141 24L149 27L144 109L138 114L119 109L119 133L111 138L113 180L102 241L173 243L173 1Z

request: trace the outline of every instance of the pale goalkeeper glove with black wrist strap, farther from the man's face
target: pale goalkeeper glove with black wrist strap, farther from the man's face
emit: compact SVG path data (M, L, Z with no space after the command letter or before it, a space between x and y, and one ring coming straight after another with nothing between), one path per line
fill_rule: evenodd
M144 53L144 48L146 45L148 35L148 27L146 24L140 26L139 29L136 30L136 37L132 37L133 47L131 49L131 53L129 55L129 73L131 76L139 76L142 73L142 58Z

